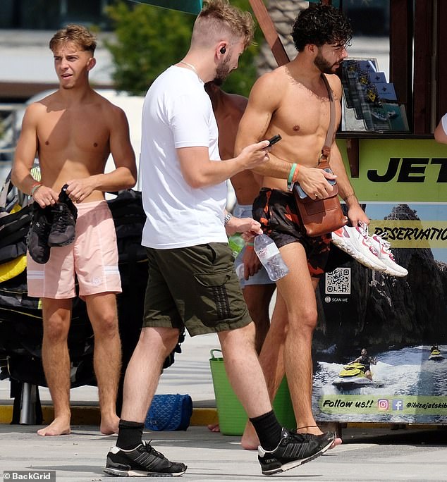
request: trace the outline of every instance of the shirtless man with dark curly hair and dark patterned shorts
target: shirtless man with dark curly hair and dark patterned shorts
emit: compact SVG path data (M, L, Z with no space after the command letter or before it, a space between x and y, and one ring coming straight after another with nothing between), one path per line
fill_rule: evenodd
M298 432L315 435L321 433L312 414L315 290L324 273L331 236L310 238L300 233L287 180L293 163L297 163L295 180L310 197L322 198L333 192L327 180L336 178L351 223L369 223L350 185L335 139L330 156L334 174L316 168L329 128L329 94L322 75L326 75L336 99L338 125L342 89L333 74L347 56L345 47L351 35L348 21L332 6L310 6L301 11L292 32L298 56L255 82L235 143L237 154L250 142L276 134L282 137L269 154L269 161L255 168L264 175L264 188L253 204L254 217L257 221L269 218L264 229L273 228L269 234L290 269L288 276L276 283L276 306L259 361L271 398L285 369ZM245 430L242 445L247 449L257 446L257 437L250 426Z

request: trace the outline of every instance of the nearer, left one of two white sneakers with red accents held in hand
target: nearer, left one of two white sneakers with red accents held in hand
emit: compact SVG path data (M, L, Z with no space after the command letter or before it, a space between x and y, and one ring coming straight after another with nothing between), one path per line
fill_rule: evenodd
M386 272L387 266L379 259L367 229L363 226L343 226L332 233L332 242L363 266Z

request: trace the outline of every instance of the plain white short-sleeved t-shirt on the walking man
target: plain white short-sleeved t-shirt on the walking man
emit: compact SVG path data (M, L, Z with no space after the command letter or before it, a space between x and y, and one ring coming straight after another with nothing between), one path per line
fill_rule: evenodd
M152 83L142 110L140 175L147 216L142 245L169 249L227 242L226 184L193 189L176 149L208 147L220 161L219 131L204 84L188 68L171 66Z

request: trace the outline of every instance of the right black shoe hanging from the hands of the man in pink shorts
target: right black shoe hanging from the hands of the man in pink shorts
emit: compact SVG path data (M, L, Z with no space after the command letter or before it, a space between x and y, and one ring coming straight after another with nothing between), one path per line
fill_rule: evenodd
M68 246L75 240L78 209L66 193L66 185L61 189L59 202L53 207L53 225L48 237L49 246Z

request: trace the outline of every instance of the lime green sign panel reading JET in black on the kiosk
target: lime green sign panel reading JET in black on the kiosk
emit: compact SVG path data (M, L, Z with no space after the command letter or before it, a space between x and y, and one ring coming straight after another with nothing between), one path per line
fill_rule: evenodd
M337 140L348 175L345 140ZM434 140L362 139L359 177L350 178L360 202L447 202L447 147Z

